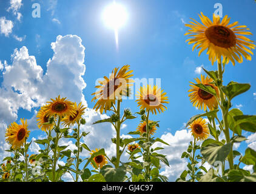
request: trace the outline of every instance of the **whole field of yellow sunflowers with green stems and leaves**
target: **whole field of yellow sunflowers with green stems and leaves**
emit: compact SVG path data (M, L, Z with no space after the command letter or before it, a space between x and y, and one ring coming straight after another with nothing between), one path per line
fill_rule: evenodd
M221 20L214 15L213 21L201 13L201 22L192 19L185 36L192 50L199 49L199 56L206 51L209 62L215 71L203 69L207 76L201 75L190 82L188 98L194 107L204 113L192 116L186 127L194 141L191 141L181 158L186 158L187 168L181 173L178 182L255 182L256 152L251 148L244 155L234 149L234 144L246 141L242 132L256 132L256 115L246 115L240 109L232 109L232 99L247 92L251 85L230 81L223 85L226 65L251 61L255 49L254 41L247 38L252 35L246 25L231 23L231 18ZM124 96L130 95L133 85L133 70L129 65L115 68L109 77L96 85L92 93L95 111L106 113L108 118L94 122L94 125L109 122L115 129L112 138L115 144L115 156L109 157L104 147L91 150L81 138L89 133L81 132L86 125L83 115L87 107L82 102L72 102L65 96L56 96L45 102L37 113L38 129L45 139L36 139L43 149L39 154L29 155L32 144L27 139L30 126L27 119L19 124L12 122L5 130L5 141L10 145L10 156L1 161L0 181L2 182L62 182L62 176L69 173L74 182L167 182L160 169L169 166L166 155L159 153L163 147L153 147L156 142L170 146L163 139L155 138L160 121L154 119L164 114L168 107L168 95L158 85L143 85L136 91L138 110L122 110ZM188 83L189 84L189 83ZM166 115L168 116L168 115ZM138 127L128 135L133 138L121 138L121 125L127 120L136 119ZM221 138L224 137L224 138ZM74 150L69 145L61 146L61 139L75 142ZM88 158L82 158L81 152L87 150ZM129 154L129 161L122 162L121 156ZM235 164L235 158L238 163ZM59 164L59 160L65 161ZM208 162L212 167L206 169ZM254 172L241 169L241 163L252 165ZM218 165L217 165L218 164ZM218 166L216 169L214 166Z

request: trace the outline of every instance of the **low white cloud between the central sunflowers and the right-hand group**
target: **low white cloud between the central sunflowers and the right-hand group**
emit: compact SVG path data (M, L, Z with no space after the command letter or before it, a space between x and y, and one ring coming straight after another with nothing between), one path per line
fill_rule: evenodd
M166 133L161 136L163 141L166 141L170 146L166 146L160 142L157 142L153 147L163 147L164 150L160 150L159 153L167 155L166 158L169 161L170 167L163 166L163 172L161 175L167 176L169 181L175 181L178 176L181 175L183 170L186 169L187 160L181 159L182 153L189 146L189 142L193 140L191 133L188 130L178 130L175 135L172 133Z

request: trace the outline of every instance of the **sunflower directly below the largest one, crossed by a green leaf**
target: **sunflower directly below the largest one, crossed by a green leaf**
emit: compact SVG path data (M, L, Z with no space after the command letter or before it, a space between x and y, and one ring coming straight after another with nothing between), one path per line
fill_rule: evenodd
M209 78L208 76L204 78L204 76L201 75L201 81L198 78L195 79L195 81L197 81L197 84L204 84L206 86L211 86L215 90L217 96L219 96L218 88L214 84L211 84L211 82L213 82L212 78ZM193 82L190 82L190 83L194 84ZM210 110L213 110L215 107L218 106L218 101L214 95L212 95L211 93L205 92L204 90L200 89L195 85L190 85L190 86L191 86L191 89L188 92L191 92L189 93L189 97L190 97L190 102L193 103L193 106L198 107L198 109L204 109L204 111L206 110L206 107L208 107Z

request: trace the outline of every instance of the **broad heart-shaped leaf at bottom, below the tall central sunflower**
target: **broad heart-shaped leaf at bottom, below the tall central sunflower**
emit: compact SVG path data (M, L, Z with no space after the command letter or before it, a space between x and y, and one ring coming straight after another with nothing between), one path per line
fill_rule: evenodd
M122 182L124 181L127 171L123 166L114 169L112 166L106 165L100 172L107 182Z

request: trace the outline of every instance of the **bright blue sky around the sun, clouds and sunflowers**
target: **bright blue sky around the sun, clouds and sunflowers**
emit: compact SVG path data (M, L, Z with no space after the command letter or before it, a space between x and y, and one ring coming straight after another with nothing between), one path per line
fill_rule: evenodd
M41 5L41 18L32 17L32 4L35 2ZM184 27L184 22L189 22L189 18L198 20L198 13L200 12L212 19L215 12L214 5L218 2L223 5L223 15L229 15L231 22L239 21L240 24L247 25L251 29L250 31L254 36L249 38L255 41L256 4L252 0L237 0L232 1L232 3L229 0L209 0L207 3L203 0L194 2L119 0L117 2L126 7L129 18L126 25L119 30L120 45L117 50L113 30L107 28L101 19L104 8L112 2L112 0L24 0L21 7L17 8L15 12L15 8L8 10L10 1L0 0L0 18L5 17L6 20L13 23L12 32L8 35L0 34L0 61L2 64L6 61L8 65L12 65L11 55L14 50L25 46L29 56L35 56L36 64L41 66L42 75L45 75L47 62L53 58L54 54L51 43L56 42L58 35L77 35L82 40L81 44L86 48L84 58L86 72L81 75L86 82L86 87L84 89L80 87L80 89L81 92L83 91L90 109L95 104L95 102L91 102L93 98L91 93L95 92L96 79L105 75L108 76L114 67L129 64L134 71L134 78L161 78L161 87L169 96L170 104L167 105L166 112L152 118L161 121L157 136L166 135L164 137L168 138L168 135L171 134L173 139L184 138L179 137L176 132L184 129L184 122L187 122L191 116L201 113L200 110L192 107L187 96L189 81L200 76L195 70L201 65L207 70L217 69L216 64L214 66L210 64L205 52L200 58L198 58L197 51L192 52L192 46L185 42L187 37L184 36L184 33L186 33L187 28ZM18 19L17 12L22 15L20 19ZM22 40L18 41L17 38ZM234 108L240 107L247 115L256 114L255 70L255 56L252 56L252 61L244 61L243 64L237 63L235 67L232 64L227 65L224 74L224 84L229 81L237 81L252 85L247 93L233 101ZM2 84L4 82L3 72L0 71L0 88L6 88L8 85ZM13 81L13 79L7 80ZM72 84L72 82L68 82L68 84ZM65 94L64 91L64 89L61 90ZM50 93L49 90L45 96L50 96ZM3 98L7 98L6 96ZM70 94L66 96L69 99L73 98ZM78 98L74 97L74 99ZM138 111L135 101L124 101L123 106L124 108L130 107L133 112ZM16 109L18 112L13 109L10 110L16 114L16 117L13 116L13 118L30 119L35 115L34 111L39 108L38 104L32 105L31 109L28 110L21 107ZM4 107L0 109L0 115L3 115L0 122L8 125L12 119L9 122L4 120L4 113L1 113L1 111L4 112L3 109ZM8 113L6 114L8 115ZM127 122L123 134L126 135L127 132L135 130L139 121L140 119L136 119ZM42 135L42 132L33 130L31 134L36 138ZM189 142L189 137L186 140ZM176 145L176 140L173 140L173 143ZM248 144L244 142L238 150L243 152ZM174 152L175 149L170 150L170 153L166 152L166 154L175 155ZM170 163L172 163L172 157L170 157ZM175 172L175 176L177 174L178 172ZM175 179L173 177L170 179Z

